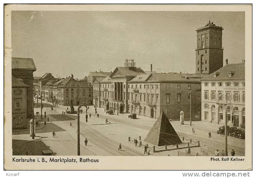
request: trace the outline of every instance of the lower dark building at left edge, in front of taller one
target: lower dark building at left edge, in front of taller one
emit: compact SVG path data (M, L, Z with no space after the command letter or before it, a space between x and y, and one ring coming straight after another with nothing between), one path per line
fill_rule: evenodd
M12 127L26 128L27 119L27 88L22 79L12 77ZM30 109L32 110L32 108Z

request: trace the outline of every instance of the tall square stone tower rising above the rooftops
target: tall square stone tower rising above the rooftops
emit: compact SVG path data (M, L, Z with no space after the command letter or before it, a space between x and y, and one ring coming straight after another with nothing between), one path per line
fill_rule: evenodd
M196 73L210 74L223 67L222 30L210 20L196 30Z

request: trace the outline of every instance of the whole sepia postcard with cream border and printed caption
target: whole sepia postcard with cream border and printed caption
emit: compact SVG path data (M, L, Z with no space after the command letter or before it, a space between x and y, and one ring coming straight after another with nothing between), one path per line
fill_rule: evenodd
M6 5L4 168L251 170L252 6Z

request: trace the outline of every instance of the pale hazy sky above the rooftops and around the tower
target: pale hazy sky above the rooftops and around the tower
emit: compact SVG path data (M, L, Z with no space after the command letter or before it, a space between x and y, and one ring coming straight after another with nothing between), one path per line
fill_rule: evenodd
M12 57L32 58L34 76L113 71L125 59L143 70L195 73L196 29L223 30L223 61L245 58L244 12L12 11Z

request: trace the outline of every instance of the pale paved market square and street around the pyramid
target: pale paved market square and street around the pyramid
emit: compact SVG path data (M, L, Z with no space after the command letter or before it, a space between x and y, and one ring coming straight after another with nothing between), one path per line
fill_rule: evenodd
M77 154L77 115L63 115L67 106L51 108L43 108L43 113L46 111L49 122L43 132L37 132L41 141L45 143L56 155L76 155ZM75 106L75 110L77 106ZM40 108L35 108L34 112L40 111ZM128 137L137 138L142 137L142 144L145 143L143 139L147 136L150 128L155 123L156 119L138 116L139 119L128 119L128 114L108 115L104 113L104 109L97 108L99 118L95 115L95 110L91 106L88 110L92 114L91 119L85 122L85 110L80 114L80 148L81 155L102 155L102 156L142 156L143 147L135 147L132 141L128 142ZM40 113L41 114L41 113ZM88 116L89 117L89 116ZM105 123L108 118L109 123ZM43 122L43 121L42 121ZM70 123L72 126L70 127ZM43 123L42 123L43 124ZM171 122L178 135L182 138L192 139L193 141L200 140L202 146L207 145L216 149L224 149L224 136L217 134L217 129L221 125L206 125L200 121L193 122L192 127L196 134L192 135L192 127L189 122L185 125L180 125L179 121ZM60 128L60 129L57 129ZM56 136L52 136L52 132L56 132ZM211 131L212 138L208 138L208 132ZM88 139L88 144L85 146L84 140ZM13 135L16 140L31 140L27 132L16 133ZM184 141L186 142L186 140ZM119 144L122 144L122 150L118 150ZM148 144L152 147L152 144ZM244 155L245 140L233 137L228 137L228 151L236 150L237 155ZM156 148L156 150L158 147ZM194 152L199 152L198 148L193 149ZM175 155L174 151L164 151L153 153L151 156L167 156Z

